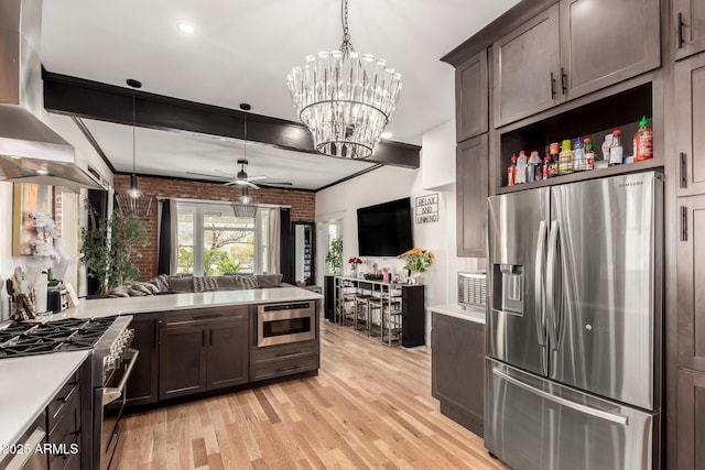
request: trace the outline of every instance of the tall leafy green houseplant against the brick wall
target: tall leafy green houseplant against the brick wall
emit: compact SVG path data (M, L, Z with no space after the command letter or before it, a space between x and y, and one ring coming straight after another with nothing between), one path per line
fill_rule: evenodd
M108 218L96 222L96 210L88 201L88 227L80 230L82 262L88 276L100 282L100 294L138 278L134 260L142 258L140 247L150 244L144 222L126 216L117 208Z

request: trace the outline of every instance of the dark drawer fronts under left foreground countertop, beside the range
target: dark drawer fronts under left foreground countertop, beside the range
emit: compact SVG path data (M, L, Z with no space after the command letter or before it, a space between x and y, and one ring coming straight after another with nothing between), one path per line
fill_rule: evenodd
M64 469L72 455L78 452L80 433L80 393L76 391L61 408L55 427L48 434L47 441L53 446L48 455L50 470Z

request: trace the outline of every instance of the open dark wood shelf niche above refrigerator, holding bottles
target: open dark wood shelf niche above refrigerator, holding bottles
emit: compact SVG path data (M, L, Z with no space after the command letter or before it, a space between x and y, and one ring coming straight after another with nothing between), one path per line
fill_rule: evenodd
M574 142L577 138L590 138L595 146L596 161L600 161L603 160L601 145L605 141L605 135L619 129L622 132L621 141L625 157L633 155L632 138L639 128L641 117L646 116L652 129L657 128L652 122L652 84L648 81L584 106L568 109L565 112L552 114L545 119L541 119L539 116L532 118L533 120L527 120L525 124L519 123L518 125L509 127L503 132L500 131L500 159L498 161L500 167L497 168L500 184L497 194L663 166L663 156L654 154L654 159L644 162L576 172L545 181L507 186L507 168L511 164L511 155L513 153L519 155L520 150L530 155L531 151L535 150L539 151L539 155L543 160L549 153L551 142L561 143L566 139ZM654 133L653 139L655 142L663 139L663 136ZM654 149L657 149L657 145L654 145Z

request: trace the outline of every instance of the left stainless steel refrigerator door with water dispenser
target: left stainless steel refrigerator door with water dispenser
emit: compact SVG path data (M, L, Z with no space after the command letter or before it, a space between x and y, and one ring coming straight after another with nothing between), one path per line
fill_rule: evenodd
M543 307L549 190L489 198L487 354L547 373Z

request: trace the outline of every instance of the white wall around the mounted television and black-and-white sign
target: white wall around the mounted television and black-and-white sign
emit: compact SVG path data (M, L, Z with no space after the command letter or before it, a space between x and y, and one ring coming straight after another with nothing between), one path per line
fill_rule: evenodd
M452 131L449 131L452 130ZM356 178L349 179L316 194L316 221L326 222L333 218L343 219L344 273L347 259L357 253L357 208L386 203L410 196L412 205L416 197L438 194L438 221L417 225L414 221L414 245L431 250L435 261L425 274L426 306L453 304L457 302L456 277L458 271L484 269L484 259L458 258L456 255L456 201L455 201L455 122L448 121L426 132L422 139L421 167L409 170L382 166ZM451 155L451 156L448 156ZM448 163L451 162L451 163ZM432 172L431 177L424 177ZM449 176L451 175L451 176ZM433 182L438 187L425 189ZM327 247L319 237L316 248L321 253L316 267L319 285L327 269L325 259ZM403 262L394 258L364 259L362 271L371 271L372 263L392 266L402 273ZM426 342L430 342L431 321L426 318Z

